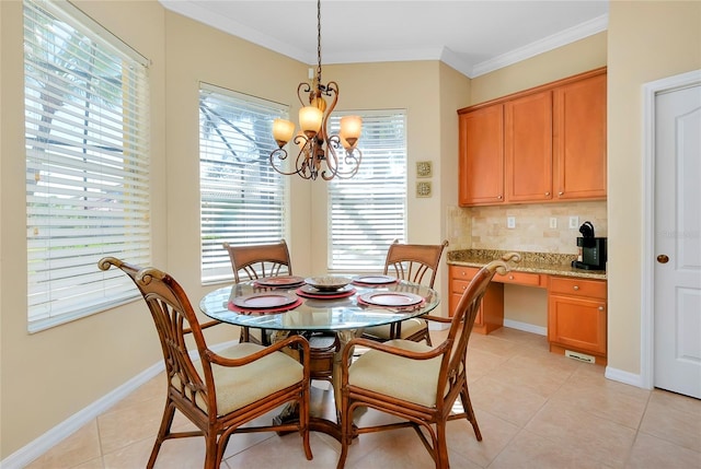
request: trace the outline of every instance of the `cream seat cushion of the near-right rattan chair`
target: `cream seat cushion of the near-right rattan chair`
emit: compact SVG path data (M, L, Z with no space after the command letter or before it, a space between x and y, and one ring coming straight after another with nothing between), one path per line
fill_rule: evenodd
M423 342L403 339L384 344L414 352L432 350ZM421 406L435 407L440 359L411 360L370 349L348 368L348 383Z

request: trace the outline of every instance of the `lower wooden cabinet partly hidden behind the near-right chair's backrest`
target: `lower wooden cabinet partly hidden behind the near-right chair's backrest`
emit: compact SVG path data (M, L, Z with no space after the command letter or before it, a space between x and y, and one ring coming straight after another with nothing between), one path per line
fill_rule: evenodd
M476 267L449 266L450 297L448 298L448 309L450 317L458 307L462 293L479 270ZM491 282L482 298L472 331L490 333L502 326L504 326L504 285Z

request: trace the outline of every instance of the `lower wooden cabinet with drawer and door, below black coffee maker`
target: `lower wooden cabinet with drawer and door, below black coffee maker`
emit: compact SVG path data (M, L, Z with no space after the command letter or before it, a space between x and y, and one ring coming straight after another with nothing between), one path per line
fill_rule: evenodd
M553 352L572 350L606 363L606 281L550 277L548 341Z

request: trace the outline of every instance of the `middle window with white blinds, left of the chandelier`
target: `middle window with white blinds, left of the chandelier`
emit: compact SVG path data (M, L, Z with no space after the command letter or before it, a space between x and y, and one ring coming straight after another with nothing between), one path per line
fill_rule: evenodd
M223 242L275 243L286 237L287 178L269 163L273 119L283 105L208 84L199 91L202 281L233 278Z

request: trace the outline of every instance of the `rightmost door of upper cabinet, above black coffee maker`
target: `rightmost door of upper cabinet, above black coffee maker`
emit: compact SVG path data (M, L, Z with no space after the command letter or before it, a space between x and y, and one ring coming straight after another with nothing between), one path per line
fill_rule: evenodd
M558 199L606 198L606 74L554 90Z

